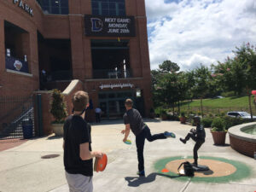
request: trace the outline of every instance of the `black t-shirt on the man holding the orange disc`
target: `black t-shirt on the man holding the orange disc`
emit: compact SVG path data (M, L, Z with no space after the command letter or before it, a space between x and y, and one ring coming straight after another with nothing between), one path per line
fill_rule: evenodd
M65 170L71 174L82 174L84 176L92 176L92 159L81 160L80 144L89 143L90 125L78 115L70 115L64 123L64 166Z

